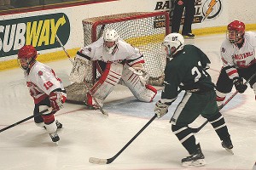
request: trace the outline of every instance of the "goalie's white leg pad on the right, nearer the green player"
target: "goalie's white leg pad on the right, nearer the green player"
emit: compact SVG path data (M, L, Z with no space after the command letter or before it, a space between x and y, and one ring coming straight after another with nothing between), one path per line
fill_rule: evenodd
M151 102L157 94L157 90L153 86L144 85L140 77L126 66L124 67L122 80L125 86L131 90L131 93L140 101Z

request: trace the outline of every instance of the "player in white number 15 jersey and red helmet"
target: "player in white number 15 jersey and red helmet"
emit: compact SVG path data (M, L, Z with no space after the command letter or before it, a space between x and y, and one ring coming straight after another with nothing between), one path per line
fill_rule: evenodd
M38 127L44 127L53 142L60 140L57 128L62 124L55 120L55 112L63 107L67 98L61 79L55 76L55 71L48 65L38 62L38 52L32 45L25 45L18 52L18 64L24 70L26 86L34 99L34 115L49 110L42 116L35 116L34 122Z

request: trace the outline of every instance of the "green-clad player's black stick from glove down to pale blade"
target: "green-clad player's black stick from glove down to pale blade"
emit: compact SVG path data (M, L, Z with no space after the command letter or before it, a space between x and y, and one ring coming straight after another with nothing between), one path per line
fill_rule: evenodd
M96 157L90 157L89 158L89 162L90 163L94 163L94 164L109 164L111 163L112 161L114 161L126 148L127 146L129 146L129 144L131 144L131 142L137 138L137 136L143 132L143 130L148 127L148 125L154 121L154 119L157 117L157 115L155 114L148 122L147 124L144 125L144 127L131 139L129 140L129 142L127 144L125 144L125 146L119 150L119 152L114 155L113 157L111 158L108 158L108 159L100 159L100 158L96 158Z

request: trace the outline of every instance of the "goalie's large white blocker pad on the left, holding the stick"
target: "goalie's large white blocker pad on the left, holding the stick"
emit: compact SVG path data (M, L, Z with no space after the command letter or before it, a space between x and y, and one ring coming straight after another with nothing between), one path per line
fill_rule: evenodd
M92 72L92 62L89 59L84 59L76 56L73 63L73 69L70 73L70 81L84 82L84 77Z

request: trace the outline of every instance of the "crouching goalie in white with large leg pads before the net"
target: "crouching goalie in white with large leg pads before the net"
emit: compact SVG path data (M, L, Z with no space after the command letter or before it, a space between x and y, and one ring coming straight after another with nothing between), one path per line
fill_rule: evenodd
M90 93L87 93L86 105L98 107L90 95L92 94L102 106L104 99L119 81L130 88L137 99L144 102L151 102L154 99L157 90L147 84L148 74L143 67L143 54L138 48L121 40L115 30L107 29L96 42L78 51L70 77L73 82L84 81L86 74L89 74L84 65L90 65L90 61L96 61L96 69L101 77L90 88Z

